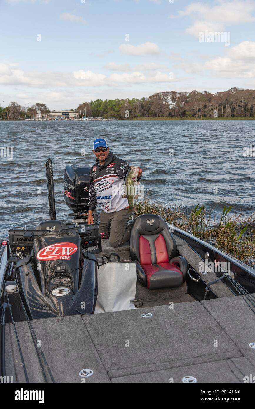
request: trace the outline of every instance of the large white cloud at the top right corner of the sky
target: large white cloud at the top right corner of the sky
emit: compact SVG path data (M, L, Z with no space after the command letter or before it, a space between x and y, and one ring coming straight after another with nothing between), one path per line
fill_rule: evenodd
M252 12L255 10L255 1L225 1L219 0L219 4L210 6L202 2L191 3L184 10L179 11L177 16L170 18L191 16L195 19L192 26L186 29L188 34L199 36L200 31L222 31L226 26L254 22Z

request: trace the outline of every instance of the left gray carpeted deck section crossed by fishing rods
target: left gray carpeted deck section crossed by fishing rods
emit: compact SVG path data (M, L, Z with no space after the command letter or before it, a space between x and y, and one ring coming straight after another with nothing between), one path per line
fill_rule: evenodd
M110 382L80 315L59 319L38 319L31 321L31 324L37 339L41 341L42 351L55 382L81 382L79 372L82 369L94 371L93 376L86 378L86 382ZM5 339L7 376L13 376L13 382L25 382L13 324L6 324L6 328L8 333ZM44 382L27 323L16 323L16 329L29 382ZM50 380L49 375L47 379Z

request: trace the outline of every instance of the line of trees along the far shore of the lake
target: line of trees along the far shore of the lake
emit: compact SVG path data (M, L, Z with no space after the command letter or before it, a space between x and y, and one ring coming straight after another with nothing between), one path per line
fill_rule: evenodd
M86 110L84 109L86 108ZM11 102L8 107L0 106L2 119L25 119L36 117L36 110L42 115L49 112L43 103L30 108ZM72 109L73 110L73 109ZM204 91L157 92L148 98L97 99L81 103L76 110L82 117L115 117L118 119L139 118L210 118L210 117L255 117L255 90L231 88L215 94Z

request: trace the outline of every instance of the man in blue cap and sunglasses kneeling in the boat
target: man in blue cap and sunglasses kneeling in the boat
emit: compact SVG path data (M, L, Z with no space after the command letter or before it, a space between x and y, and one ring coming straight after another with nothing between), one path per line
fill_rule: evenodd
M109 238L110 246L120 247L130 235L127 228L130 214L128 200L121 197L129 165L109 151L103 138L94 140L92 152L97 159L90 171L88 224L93 223L93 211L97 203L100 204L99 233L105 233L104 238ZM142 172L139 168L137 180L141 179ZM114 193L116 191L117 194Z

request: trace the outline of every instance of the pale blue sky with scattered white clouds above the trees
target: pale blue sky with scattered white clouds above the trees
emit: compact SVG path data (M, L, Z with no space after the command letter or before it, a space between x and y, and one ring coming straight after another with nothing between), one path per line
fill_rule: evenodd
M0 32L1 106L255 89L255 0L0 0Z

